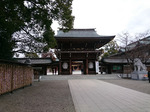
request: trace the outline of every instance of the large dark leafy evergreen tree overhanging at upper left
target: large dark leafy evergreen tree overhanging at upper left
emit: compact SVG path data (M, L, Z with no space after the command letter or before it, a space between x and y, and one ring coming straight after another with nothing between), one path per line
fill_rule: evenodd
M60 29L73 27L72 0L1 0L0 59L14 53L46 52L56 46L53 21Z

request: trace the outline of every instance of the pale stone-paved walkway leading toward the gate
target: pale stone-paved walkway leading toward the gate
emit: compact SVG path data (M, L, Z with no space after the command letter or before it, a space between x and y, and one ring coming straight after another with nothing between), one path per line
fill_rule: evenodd
M100 80L69 80L76 112L150 112L150 95Z

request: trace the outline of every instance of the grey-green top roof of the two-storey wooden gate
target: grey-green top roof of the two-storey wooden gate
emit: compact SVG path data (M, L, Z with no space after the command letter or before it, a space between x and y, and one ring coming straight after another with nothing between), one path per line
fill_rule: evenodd
M95 29L72 29L69 32L58 31L55 37L111 37L98 35Z

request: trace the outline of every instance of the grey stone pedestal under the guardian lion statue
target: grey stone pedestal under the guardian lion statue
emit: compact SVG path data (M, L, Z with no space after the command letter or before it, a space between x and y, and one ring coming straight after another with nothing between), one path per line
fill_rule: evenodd
M147 80L148 77L146 77L147 71L134 71L131 73L131 79L134 80Z

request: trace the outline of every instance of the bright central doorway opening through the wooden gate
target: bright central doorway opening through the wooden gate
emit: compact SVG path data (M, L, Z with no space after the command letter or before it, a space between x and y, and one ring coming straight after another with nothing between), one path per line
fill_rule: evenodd
M83 61L72 61L72 74L83 74Z

